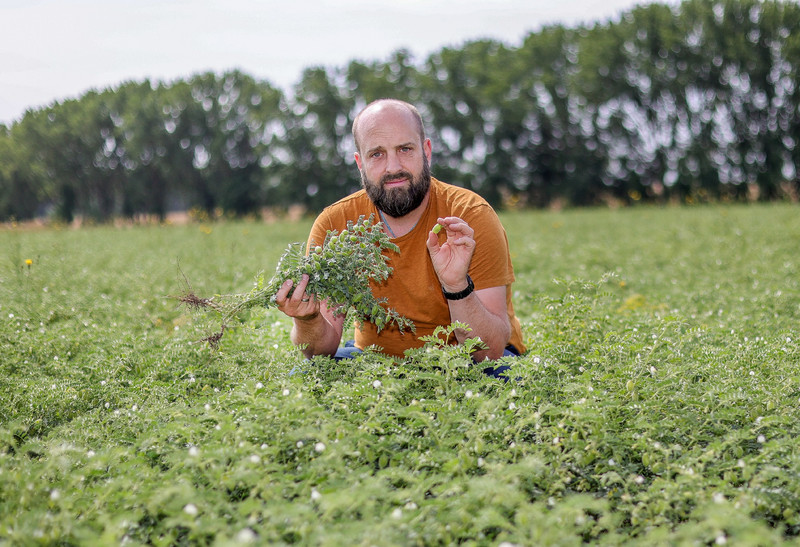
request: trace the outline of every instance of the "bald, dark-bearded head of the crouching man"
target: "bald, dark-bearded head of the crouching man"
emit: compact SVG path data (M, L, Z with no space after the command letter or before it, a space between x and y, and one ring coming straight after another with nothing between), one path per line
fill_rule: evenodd
M430 188L431 142L413 105L396 99L370 103L353 122L361 183L376 207L402 217Z

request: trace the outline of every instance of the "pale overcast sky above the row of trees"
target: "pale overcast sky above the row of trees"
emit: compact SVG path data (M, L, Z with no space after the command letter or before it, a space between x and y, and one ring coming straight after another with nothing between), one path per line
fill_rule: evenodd
M0 0L0 123L125 81L239 69L290 92L312 66L618 20L644 0ZM677 0L662 0L675 4Z

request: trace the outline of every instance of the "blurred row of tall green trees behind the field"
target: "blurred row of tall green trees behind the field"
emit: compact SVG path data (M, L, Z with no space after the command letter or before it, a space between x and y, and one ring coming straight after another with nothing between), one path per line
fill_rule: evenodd
M233 71L128 82L0 126L0 219L318 210L358 188L367 102L417 104L434 174L496 205L797 198L800 6L650 4L519 46L306 70L291 95Z

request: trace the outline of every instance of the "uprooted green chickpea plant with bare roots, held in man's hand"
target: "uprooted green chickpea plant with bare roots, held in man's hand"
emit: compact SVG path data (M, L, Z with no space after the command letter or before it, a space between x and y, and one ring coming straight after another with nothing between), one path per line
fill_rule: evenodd
M362 216L356 222L348 221L347 229L341 233L329 231L323 244L307 253L304 243L290 244L270 280L266 281L264 272L259 273L247 293L202 298L187 289L178 299L191 309L220 316L219 332L203 339L214 348L237 315L257 306L276 306L275 295L281 285L291 279L296 286L303 274L309 277L306 292L327 301L337 313L350 312L354 319L370 321L378 330L394 322L400 330L413 331L412 321L385 306L385 298L377 299L372 294L370 282L385 281L392 272L384 251L398 253L400 249L389 240L380 223Z

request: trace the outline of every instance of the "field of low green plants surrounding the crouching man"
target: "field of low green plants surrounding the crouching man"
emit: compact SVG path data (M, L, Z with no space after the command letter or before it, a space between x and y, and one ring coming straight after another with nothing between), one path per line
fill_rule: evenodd
M303 362L310 220L0 229L0 544L800 541L800 209L505 213L529 352ZM292 374L295 367L303 374Z

